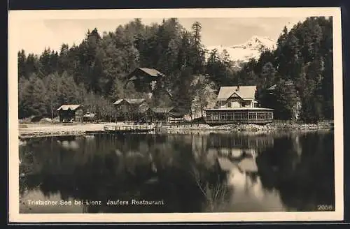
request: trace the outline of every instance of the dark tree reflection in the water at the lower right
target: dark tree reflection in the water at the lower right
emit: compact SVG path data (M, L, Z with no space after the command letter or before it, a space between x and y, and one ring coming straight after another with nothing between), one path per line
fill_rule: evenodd
M285 150L280 150L285 148ZM277 189L290 210L316 211L335 203L332 134L290 135L257 158L267 189Z

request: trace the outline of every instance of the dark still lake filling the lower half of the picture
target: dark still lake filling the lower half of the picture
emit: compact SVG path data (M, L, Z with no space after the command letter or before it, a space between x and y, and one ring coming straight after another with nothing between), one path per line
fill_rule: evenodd
M334 133L95 134L20 145L20 213L334 206Z

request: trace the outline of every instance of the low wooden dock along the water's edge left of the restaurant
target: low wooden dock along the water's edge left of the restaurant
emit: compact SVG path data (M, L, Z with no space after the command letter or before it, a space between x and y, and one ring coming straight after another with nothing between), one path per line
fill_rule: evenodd
M160 131L158 125L127 125L127 124L116 124L104 126L104 131L107 133L157 133Z

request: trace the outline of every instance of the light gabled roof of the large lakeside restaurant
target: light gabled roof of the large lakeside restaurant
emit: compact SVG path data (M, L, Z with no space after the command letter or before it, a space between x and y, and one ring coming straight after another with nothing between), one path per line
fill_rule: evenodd
M256 86L221 87L216 100L225 101L234 93L243 99L255 98Z

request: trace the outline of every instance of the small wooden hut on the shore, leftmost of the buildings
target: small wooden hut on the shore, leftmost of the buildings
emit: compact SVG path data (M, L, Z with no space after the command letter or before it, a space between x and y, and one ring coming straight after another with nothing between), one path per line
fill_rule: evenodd
M59 121L71 122L71 121L83 121L83 105L71 104L62 105L57 109L59 115Z

